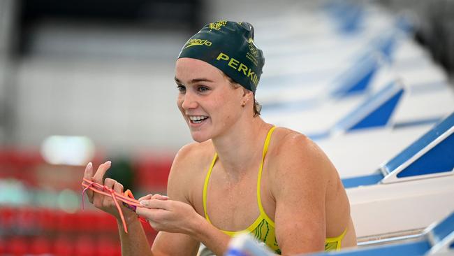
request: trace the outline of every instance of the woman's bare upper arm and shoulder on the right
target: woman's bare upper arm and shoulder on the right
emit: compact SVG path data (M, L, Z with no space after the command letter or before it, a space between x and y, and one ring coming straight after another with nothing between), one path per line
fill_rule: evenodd
M325 194L334 166L314 142L295 133L283 138L274 164L271 191L282 255L324 250Z

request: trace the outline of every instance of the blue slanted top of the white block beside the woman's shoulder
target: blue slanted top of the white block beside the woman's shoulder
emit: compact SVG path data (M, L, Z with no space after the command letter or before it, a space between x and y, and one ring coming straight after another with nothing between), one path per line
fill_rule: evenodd
M345 178L344 187L453 175L454 113L383 164L376 173Z

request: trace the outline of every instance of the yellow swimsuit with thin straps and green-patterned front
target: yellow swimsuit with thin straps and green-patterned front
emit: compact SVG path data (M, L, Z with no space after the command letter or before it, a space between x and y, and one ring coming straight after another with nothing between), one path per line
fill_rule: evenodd
M257 178L257 204L258 209L260 210L260 215L252 223L247 229L241 231L224 231L225 234L229 236L235 236L236 234L240 233L251 233L255 236L258 241L262 241L265 243L270 249L272 249L275 253L281 254L281 250L277 245L276 235L274 234L274 221L268 217L268 215L263 210L262 201L261 201L261 193L260 193L260 185L261 185L261 178L262 178L262 169L263 169L263 160L265 159L266 152L268 151L268 145L270 144L271 134L274 131L275 127L272 127L270 131L268 131L268 135L265 139L265 145L263 145L263 154L262 154L262 162L260 165L260 169L258 169L258 178ZM205 183L203 185L203 211L205 213L205 219L210 222L210 217L207 214L207 187L208 181L210 180L211 171L213 169L214 164L217 160L217 154L214 154L212 163L210 165L210 169L208 169L207 176L205 177ZM334 238L327 238L325 240L325 250L339 250L341 248L341 241L344 238L346 233L346 229L340 236Z

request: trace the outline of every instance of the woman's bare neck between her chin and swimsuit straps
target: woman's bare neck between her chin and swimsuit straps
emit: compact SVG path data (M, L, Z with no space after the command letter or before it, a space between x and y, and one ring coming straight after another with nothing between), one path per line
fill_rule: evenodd
M227 134L212 138L219 164L232 179L238 179L261 157L265 136L271 125L260 117L247 122L237 122ZM258 168L258 166L257 166Z

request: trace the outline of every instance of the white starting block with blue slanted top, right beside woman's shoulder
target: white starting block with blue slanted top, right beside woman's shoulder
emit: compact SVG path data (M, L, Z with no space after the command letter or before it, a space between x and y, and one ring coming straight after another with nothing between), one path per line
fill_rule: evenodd
M454 211L453 132L454 113L379 173L343 180L358 237L423 229Z

